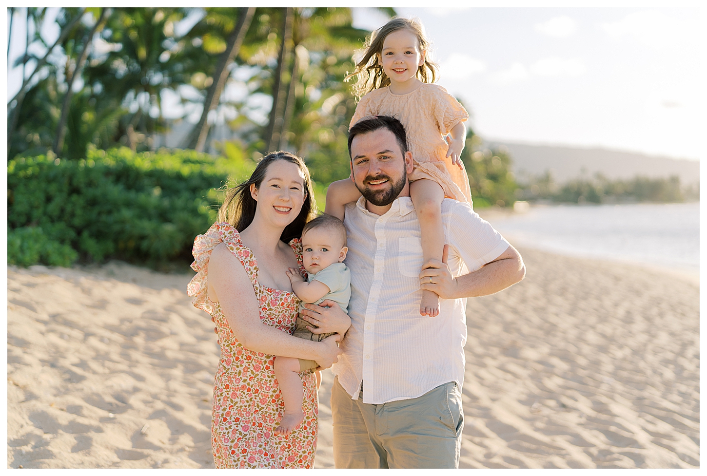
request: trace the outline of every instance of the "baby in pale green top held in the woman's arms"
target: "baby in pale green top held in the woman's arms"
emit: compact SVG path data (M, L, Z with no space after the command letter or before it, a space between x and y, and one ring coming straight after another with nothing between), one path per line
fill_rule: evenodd
M305 225L302 230L302 258L308 278L305 280L296 269L287 270L292 290L303 303L320 304L325 299L330 299L347 312L351 297L351 273L342 263L347 251L349 249L346 247L346 228L339 218L323 214ZM293 335L319 341L334 334L312 334L307 326L311 324L298 318ZM313 360L275 357L275 376L280 384L282 399L285 400L285 415L279 427L275 429L276 434L291 432L304 419L304 393L299 372L317 367L319 364Z

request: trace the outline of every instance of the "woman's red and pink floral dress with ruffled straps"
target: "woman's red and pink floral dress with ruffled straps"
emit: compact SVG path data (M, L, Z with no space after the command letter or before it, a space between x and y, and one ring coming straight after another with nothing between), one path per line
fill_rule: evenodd
M194 239L197 271L187 287L194 307L211 314L216 321L221 359L216 369L211 412L211 450L216 468L312 468L317 448L317 382L312 371L300 373L304 390L304 421L289 434L274 434L284 414L284 401L273 370L273 355L252 352L233 335L221 305L206 291L206 274L211 251L225 243L240 260L253 283L260 306L260 319L286 333L295 328L300 300L293 292L260 285L258 266L252 251L240 241L238 231L228 223L214 223ZM300 272L302 244L293 239Z

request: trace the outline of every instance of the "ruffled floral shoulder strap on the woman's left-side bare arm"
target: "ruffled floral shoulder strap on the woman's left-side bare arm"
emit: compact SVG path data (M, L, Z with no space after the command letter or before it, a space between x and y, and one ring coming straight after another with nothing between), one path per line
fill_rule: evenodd
M195 275L187 285L187 294L194 297L194 299L192 299L194 307L203 309L209 314L211 314L213 310L213 303L209 299L206 275L209 274L209 258L211 258L211 251L214 251L214 248L221 243L226 244L226 247L233 253L233 256L238 258L240 263L243 264L243 268L245 268L246 273L248 273L250 281L254 284L257 283L258 268L255 263L255 258L250 249L240 241L238 230L236 230L233 225L229 225L226 222L214 223L206 233L199 234L194 238L194 247L192 248L194 262L192 263L192 269L197 272L197 275Z

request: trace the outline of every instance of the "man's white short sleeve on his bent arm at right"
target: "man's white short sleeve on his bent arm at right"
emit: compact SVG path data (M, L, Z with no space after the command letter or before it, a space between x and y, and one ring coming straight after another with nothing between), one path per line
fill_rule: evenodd
M448 213L445 213L445 208ZM445 199L443 215L448 230L448 243L469 273L498 258L510 246L501 233L493 229L491 223L474 212L469 203Z

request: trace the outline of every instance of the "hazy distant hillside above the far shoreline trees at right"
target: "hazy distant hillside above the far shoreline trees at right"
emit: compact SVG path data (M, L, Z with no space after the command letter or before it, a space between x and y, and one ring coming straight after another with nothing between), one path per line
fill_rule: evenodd
M530 145L486 141L490 147L506 145L513 160L513 172L522 180L527 174L544 174L551 169L556 182L579 177L582 169L591 177L601 172L610 179L629 179L636 175L669 177L677 175L681 184L699 182L700 165L696 160L643 155L607 149L583 149L551 145Z

